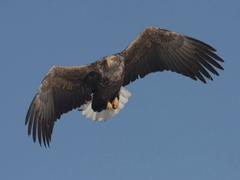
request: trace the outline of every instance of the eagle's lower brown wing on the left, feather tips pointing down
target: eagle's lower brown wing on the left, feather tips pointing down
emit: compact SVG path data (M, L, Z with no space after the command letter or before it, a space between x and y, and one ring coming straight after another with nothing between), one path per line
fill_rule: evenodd
M91 99L92 89L83 83L84 77L92 71L91 64L86 66L53 66L42 81L28 109L25 124L28 135L33 132L33 140L41 139L49 146L54 123L63 113L80 107Z

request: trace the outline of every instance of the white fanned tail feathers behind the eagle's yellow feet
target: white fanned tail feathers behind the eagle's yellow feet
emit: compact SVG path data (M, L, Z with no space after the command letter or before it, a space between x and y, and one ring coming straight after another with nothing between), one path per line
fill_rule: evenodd
M121 87L119 92L119 106L117 109L113 109L112 111L108 110L102 110L101 112L94 112L92 109L92 100L88 101L86 104L83 104L78 110L82 111L82 115L86 116L86 118L92 118L93 121L96 121L99 119L99 121L106 121L110 117L115 116L119 113L119 111L124 108L125 104L128 102L128 98L132 94L125 89L124 87Z

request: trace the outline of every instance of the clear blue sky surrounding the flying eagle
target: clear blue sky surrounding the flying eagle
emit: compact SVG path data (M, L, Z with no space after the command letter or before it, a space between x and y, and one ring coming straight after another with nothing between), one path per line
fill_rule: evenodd
M240 1L0 1L0 179L240 179ZM107 122L77 110L50 148L27 135L28 107L53 65L121 52L147 26L204 41L225 60L207 84L172 72L126 86Z

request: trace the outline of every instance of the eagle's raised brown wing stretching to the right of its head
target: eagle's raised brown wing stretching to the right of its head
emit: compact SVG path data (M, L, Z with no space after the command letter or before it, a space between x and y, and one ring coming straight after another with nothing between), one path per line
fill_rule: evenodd
M206 69L215 75L219 74L212 65L223 70L216 60L224 61L212 51L216 50L199 40L147 27L120 53L125 59L123 86L135 81L138 76L143 78L151 72L164 70L206 83L203 75L212 80Z

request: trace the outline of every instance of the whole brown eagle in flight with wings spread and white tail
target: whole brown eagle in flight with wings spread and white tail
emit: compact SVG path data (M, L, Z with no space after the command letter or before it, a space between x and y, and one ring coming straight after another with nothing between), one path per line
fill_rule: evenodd
M157 71L172 71L206 83L213 68L224 62L210 45L169 30L146 27L120 53L83 66L53 66L44 77L28 109L28 135L49 146L61 115L78 108L94 121L118 114L131 93L124 87ZM208 72L209 71L209 72ZM205 78L204 78L205 77Z

